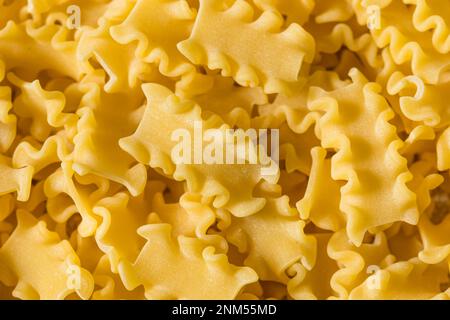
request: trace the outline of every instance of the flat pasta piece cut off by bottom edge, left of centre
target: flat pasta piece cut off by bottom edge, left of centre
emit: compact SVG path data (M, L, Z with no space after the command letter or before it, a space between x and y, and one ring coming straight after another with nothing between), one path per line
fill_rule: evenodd
M229 264L225 255L198 239L180 236L174 241L170 229L168 224L139 228L147 243L134 264L119 266L127 289L143 284L148 299L232 299L258 279L252 269ZM185 286L187 282L192 285Z

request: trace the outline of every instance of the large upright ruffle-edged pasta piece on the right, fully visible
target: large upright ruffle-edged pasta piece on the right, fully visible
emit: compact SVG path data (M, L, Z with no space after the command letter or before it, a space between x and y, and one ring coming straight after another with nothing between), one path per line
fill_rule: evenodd
M402 141L388 122L393 111L378 85L356 69L350 77L353 83L343 89L313 91L309 107L326 111L319 121L322 146L338 150L332 177L348 181L341 189L340 209L347 216L349 238L359 245L370 228L395 221L416 224L419 212L406 186L412 174L397 151Z

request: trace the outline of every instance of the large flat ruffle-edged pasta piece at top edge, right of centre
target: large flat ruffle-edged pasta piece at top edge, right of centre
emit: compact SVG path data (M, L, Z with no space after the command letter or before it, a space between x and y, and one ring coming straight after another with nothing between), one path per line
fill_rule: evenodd
M178 49L195 64L221 69L242 86L289 92L288 84L298 82L312 62L314 39L295 23L279 32L283 19L274 11L264 11L255 21L253 13L243 0L225 10L220 0L201 0L191 36ZM239 41L224 41L230 37Z

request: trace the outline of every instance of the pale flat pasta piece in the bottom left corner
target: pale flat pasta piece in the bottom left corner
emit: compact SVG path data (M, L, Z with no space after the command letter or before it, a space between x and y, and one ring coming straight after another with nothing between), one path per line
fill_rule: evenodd
M17 216L17 229L0 249L0 277L9 285L17 282L13 295L63 299L77 292L83 299L89 298L94 288L92 275L80 268L69 243L60 241L30 213L18 211Z

